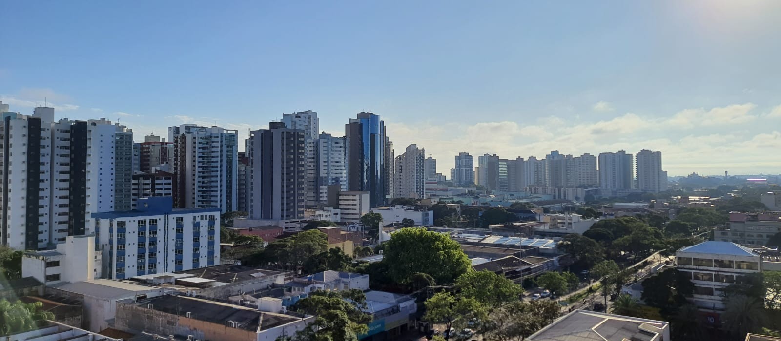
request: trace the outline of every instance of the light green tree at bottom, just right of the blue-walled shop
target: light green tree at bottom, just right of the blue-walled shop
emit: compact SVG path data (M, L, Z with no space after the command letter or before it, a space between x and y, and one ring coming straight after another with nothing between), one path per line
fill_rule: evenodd
M464 325L471 318L485 319L486 316L486 308L474 298L455 297L440 292L426 300L426 315L423 319L444 324L445 330L450 330L454 325ZM445 339L450 339L450 336L445 336Z

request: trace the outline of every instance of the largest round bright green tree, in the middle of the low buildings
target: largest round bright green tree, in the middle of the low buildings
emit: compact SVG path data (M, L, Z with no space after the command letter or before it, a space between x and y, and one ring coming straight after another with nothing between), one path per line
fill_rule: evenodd
M405 227L386 241L383 263L396 283L407 283L416 272L427 273L437 283L451 283L472 269L472 262L461 250L461 244L447 234L424 228Z

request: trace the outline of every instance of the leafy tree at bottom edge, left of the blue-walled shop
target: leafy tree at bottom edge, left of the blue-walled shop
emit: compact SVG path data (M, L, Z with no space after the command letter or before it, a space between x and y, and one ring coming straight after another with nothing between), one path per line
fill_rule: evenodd
M299 311L315 317L304 330L291 338L295 341L357 341L369 331L372 316L366 309L366 295L361 290L314 291L296 304Z

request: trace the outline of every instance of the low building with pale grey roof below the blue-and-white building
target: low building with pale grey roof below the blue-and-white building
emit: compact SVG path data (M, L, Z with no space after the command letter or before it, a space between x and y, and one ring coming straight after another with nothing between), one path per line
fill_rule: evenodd
M165 292L166 290L160 287L142 286L113 279L93 279L46 289L47 296L55 297L57 301L80 303L84 308L83 325L92 332L109 328L109 322L116 314L116 301L143 300L160 296Z

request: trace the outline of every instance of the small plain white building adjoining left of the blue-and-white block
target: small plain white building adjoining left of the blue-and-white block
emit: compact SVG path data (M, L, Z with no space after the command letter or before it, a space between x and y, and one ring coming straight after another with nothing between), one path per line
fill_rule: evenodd
M95 236L69 236L55 250L30 251L22 257L22 276L52 286L102 276L102 251L95 251Z

